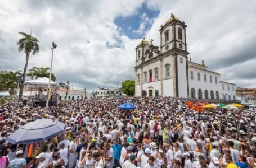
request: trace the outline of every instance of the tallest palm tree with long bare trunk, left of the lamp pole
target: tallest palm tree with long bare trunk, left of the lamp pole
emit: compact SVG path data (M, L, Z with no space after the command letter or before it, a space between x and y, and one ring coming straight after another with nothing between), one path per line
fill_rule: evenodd
M25 32L19 32L20 35L22 35L22 37L18 40L17 42L17 46L18 46L18 50L21 52L24 50L24 52L26 53L26 63L25 63L25 67L23 70L23 74L26 74L26 69L28 68L28 63L29 63L29 54L32 53L33 55L35 55L36 53L39 52L39 45L38 45L38 39L35 38L34 36L29 34L26 34ZM21 97L23 95L23 88L24 88L24 81L25 81L26 76L23 76L23 82L21 83L21 87L20 87L20 95L19 95L19 101L21 101Z

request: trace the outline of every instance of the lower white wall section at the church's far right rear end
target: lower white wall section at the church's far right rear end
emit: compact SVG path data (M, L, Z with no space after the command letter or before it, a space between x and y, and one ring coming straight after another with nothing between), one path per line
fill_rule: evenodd
M234 98L236 100L236 85L233 85L232 83L227 83L227 82L220 82L220 85L221 85L221 99L224 99L224 96L225 96L225 100L229 100L228 96L230 96L231 100L234 100ZM224 89L222 85L224 86ZM229 87L229 90L228 90L228 87Z

